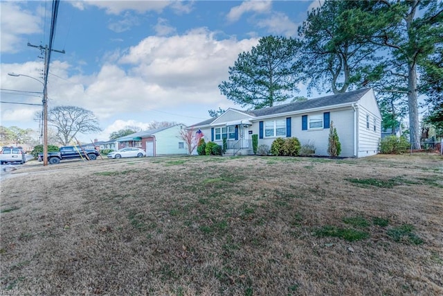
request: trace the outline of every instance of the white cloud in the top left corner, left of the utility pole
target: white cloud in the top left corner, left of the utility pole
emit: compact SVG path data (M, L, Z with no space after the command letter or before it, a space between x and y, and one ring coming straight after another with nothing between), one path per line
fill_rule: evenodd
M42 19L14 2L0 2L0 51L15 53L26 45L24 35L40 33Z

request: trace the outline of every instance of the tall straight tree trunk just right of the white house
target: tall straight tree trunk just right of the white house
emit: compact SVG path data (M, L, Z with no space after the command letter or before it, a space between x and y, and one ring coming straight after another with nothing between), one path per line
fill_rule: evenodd
M408 89L410 143L413 149L421 149L417 103L417 67L415 62L408 64Z

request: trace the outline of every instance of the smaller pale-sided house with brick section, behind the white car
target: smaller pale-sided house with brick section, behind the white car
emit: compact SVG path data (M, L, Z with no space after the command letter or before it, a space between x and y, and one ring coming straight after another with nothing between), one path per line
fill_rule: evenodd
M167 128L134 132L116 139L118 149L137 147L145 150L146 156L188 154L186 143L180 139L180 131L184 128L185 125L177 124Z

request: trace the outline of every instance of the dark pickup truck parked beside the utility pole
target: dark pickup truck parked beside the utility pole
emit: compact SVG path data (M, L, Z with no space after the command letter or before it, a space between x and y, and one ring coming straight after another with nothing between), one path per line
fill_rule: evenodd
M82 149L83 148L83 149ZM84 152L83 152L84 150ZM48 162L50 164L58 164L60 160L65 159L87 159L85 154L88 155L89 159L95 160L100 155L98 150L94 146L64 146L60 147L58 152L48 152ZM43 161L43 153L38 155L39 162Z

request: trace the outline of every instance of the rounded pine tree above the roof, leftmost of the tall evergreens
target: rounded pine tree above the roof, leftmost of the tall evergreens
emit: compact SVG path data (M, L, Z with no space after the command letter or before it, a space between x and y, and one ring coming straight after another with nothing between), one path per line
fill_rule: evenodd
M219 85L228 100L251 109L272 107L293 98L298 91L298 60L300 42L292 38L262 37L251 52L240 53L229 80Z

